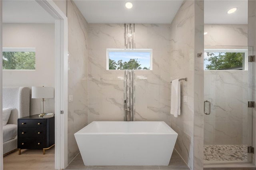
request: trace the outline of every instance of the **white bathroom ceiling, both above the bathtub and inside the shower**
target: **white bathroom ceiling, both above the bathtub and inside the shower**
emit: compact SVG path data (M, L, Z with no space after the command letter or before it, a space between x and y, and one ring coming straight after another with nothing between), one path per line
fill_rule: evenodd
M74 0L88 23L170 24L183 0ZM238 10L227 14L231 8ZM205 24L247 24L247 0L205 0Z

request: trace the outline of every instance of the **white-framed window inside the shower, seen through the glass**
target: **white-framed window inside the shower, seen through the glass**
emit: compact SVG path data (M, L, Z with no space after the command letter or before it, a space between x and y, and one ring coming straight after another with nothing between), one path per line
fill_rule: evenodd
M248 70L248 49L204 49L204 70Z

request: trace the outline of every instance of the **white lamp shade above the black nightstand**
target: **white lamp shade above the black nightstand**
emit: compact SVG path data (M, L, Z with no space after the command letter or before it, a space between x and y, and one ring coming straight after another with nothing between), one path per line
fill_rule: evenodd
M32 87L32 98L53 98L54 97L53 87Z

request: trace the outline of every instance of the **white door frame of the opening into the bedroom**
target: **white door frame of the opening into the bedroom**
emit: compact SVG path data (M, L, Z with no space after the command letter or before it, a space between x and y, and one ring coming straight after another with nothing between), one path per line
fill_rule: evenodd
M55 169L68 166L68 18L52 0L36 0L55 19ZM2 1L0 1L0 110L2 110ZM64 114L60 114L63 111ZM2 114L0 114L2 120ZM3 169L0 121L0 169Z

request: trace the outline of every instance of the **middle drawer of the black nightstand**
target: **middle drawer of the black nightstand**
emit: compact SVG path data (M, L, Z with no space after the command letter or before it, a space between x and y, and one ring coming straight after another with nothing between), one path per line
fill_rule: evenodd
M44 138L44 128L19 128L19 138Z

